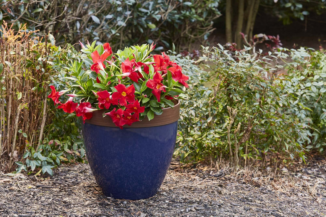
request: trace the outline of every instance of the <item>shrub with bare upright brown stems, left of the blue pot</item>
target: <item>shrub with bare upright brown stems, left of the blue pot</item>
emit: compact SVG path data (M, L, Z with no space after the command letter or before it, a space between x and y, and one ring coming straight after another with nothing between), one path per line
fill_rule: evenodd
M2 28L0 156L7 160L7 170L17 161L15 172L40 167L38 173L52 175L51 168L80 161L84 155L80 121L73 116L65 118L61 111L52 113L54 105L47 97L48 81L60 86L55 80L65 75L63 67L76 51L56 47L50 34L50 43L35 44L40 39L29 38L25 28L17 34Z

